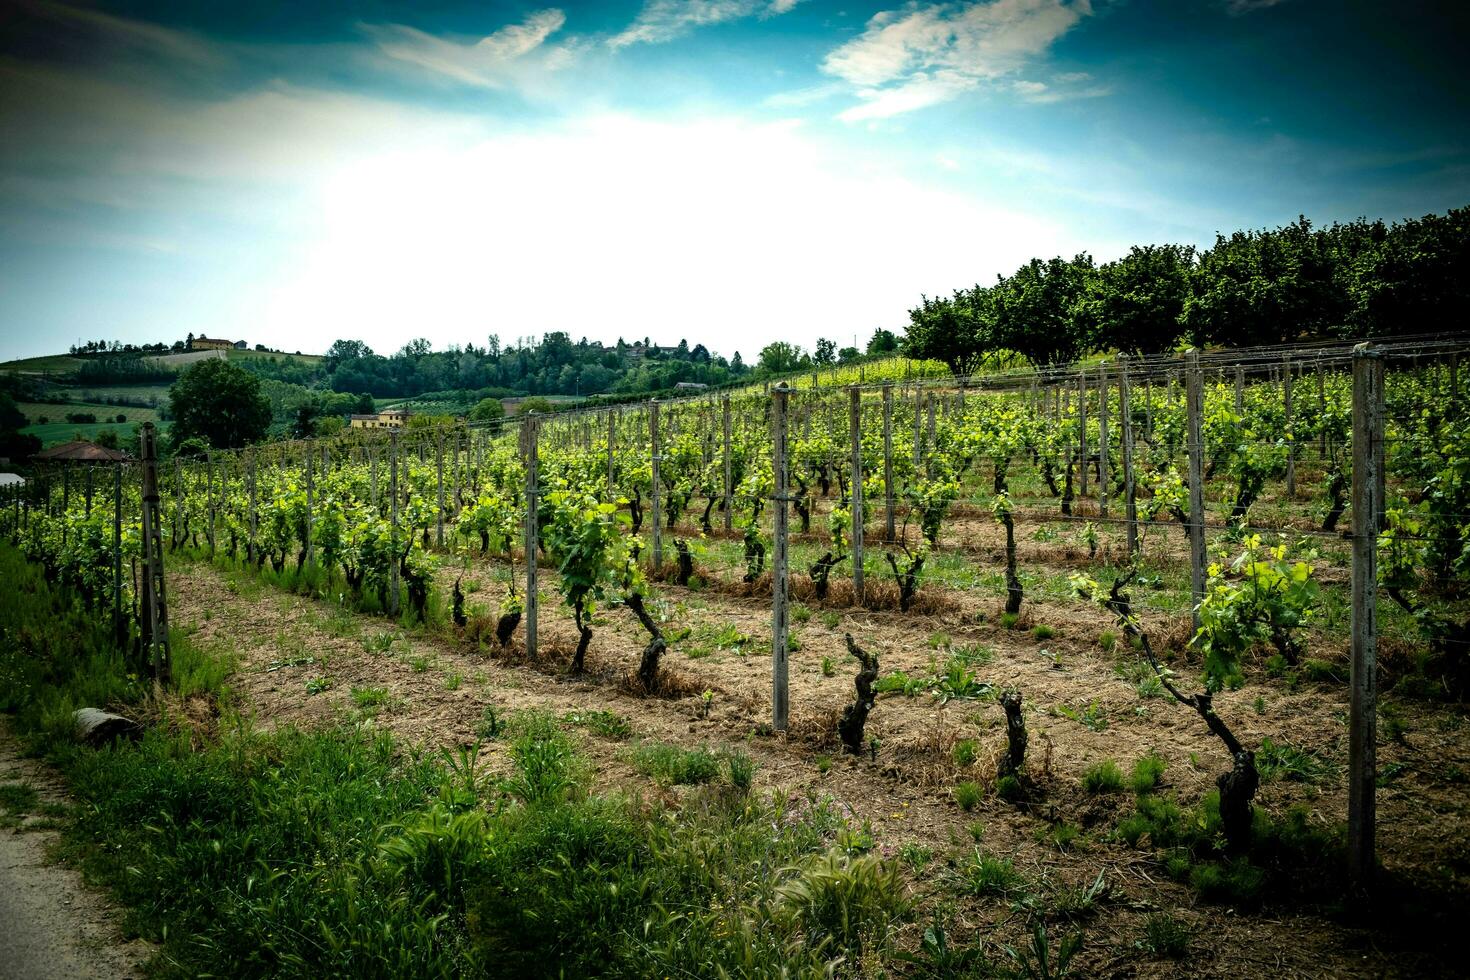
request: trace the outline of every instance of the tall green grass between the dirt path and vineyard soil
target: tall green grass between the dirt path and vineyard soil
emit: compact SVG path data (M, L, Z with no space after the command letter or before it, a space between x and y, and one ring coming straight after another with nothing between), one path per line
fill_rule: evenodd
M63 851L160 945L159 976L822 977L891 952L904 886L835 846L823 799L756 798L748 774L678 810L589 795L548 717L512 724L504 780L473 754L228 713L213 738L165 708L137 743L84 748L71 710L144 685L4 545L0 574L0 707L66 773L82 805ZM184 689L220 698L228 663L175 651Z

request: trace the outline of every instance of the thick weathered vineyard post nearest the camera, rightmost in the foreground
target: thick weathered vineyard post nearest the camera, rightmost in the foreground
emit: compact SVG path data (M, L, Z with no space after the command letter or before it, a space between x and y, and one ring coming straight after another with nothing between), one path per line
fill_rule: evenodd
M1348 714L1348 873L1373 876L1377 738L1377 514L1383 508L1383 359L1352 351L1352 661Z

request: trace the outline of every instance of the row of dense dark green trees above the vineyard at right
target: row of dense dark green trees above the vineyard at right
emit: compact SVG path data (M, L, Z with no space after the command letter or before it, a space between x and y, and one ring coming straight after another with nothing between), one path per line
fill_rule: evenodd
M1135 245L1114 262L1032 259L992 285L920 297L904 351L957 375L1022 357L1069 364L1092 351L1257 347L1463 329L1470 209L1394 225L1307 217L1216 235L1214 245Z

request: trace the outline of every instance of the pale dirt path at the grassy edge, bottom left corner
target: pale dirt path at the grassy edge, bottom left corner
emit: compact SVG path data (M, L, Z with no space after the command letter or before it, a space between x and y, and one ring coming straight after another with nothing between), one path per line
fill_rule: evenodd
M9 790L4 799L15 802L31 796L24 788L35 790L28 805L0 802L0 977L141 977L151 948L125 942L118 909L88 889L78 871L47 858L57 836L47 814L66 805L65 790L46 765L22 758L0 723L0 790Z

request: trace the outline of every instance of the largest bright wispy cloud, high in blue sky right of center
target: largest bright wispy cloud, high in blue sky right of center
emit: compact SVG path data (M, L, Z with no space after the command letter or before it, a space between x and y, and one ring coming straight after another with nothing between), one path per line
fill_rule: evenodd
M881 119L1020 71L1091 13L1091 0L911 1L876 13L822 69L856 85L863 100L841 119Z

